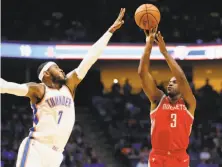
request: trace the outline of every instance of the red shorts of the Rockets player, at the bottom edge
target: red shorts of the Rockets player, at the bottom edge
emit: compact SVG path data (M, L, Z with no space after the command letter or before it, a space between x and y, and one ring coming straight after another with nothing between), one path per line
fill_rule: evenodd
M148 167L189 167L190 158L186 150L164 151L152 149Z

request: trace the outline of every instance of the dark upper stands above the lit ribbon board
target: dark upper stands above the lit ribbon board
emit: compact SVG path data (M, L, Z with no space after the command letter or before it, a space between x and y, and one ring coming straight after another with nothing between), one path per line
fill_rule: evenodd
M159 29L166 41L221 43L222 11L218 0L3 1L2 40L95 41L125 7L125 26L113 41L143 42L143 33L134 21L136 9L143 3L159 8Z

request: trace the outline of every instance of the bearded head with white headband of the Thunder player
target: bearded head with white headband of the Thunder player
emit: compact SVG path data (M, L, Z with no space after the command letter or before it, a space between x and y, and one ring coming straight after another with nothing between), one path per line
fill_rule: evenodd
M56 84L65 84L66 75L54 62L42 63L37 70L37 75L42 82L52 82Z

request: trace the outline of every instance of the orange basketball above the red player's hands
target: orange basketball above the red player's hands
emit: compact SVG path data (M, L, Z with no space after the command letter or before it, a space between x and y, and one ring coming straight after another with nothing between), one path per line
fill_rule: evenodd
M134 18L141 29L150 30L159 24L160 11L152 4L143 4L136 9Z

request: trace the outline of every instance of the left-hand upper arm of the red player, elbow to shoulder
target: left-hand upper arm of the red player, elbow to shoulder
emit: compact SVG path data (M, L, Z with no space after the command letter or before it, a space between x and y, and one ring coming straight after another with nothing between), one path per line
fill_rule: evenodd
M147 72L145 74L139 74L139 76L141 79L143 91L149 98L150 102L153 104L158 103L164 93L157 88L151 74Z

